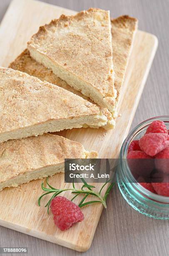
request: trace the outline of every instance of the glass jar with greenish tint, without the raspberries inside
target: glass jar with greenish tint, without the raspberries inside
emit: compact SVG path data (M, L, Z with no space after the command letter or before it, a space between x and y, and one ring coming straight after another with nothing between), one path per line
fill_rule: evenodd
M141 138L154 120L164 121L167 130L169 129L169 116L157 116L140 123L129 133L120 151L117 183L122 196L135 210L151 218L167 220L169 219L169 197L156 195L142 187L134 179L127 164L129 144Z

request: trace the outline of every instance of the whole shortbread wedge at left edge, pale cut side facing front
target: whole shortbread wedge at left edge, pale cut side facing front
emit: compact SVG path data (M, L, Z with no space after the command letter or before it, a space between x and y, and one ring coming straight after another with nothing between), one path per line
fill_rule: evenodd
M0 142L106 123L99 107L82 97L0 67Z

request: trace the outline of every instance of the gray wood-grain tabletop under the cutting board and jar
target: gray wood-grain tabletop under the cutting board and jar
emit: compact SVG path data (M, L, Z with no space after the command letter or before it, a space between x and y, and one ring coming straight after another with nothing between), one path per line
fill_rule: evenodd
M76 11L89 7L107 9L111 11L112 17L124 14L137 17L139 29L155 34L159 39L159 47L132 128L152 116L169 115L169 0L46 0L44 2ZM9 3L10 0L0 0L0 20ZM169 221L153 220L139 214L124 201L117 187L108 197L107 206L107 210L102 212L92 246L83 255L169 255ZM81 254L3 227L0 227L0 246L26 246L29 250L28 255L33 256Z

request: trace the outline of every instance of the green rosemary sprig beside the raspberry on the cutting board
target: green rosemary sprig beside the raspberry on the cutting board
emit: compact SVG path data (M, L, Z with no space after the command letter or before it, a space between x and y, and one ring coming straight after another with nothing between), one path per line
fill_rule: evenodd
M52 197L50 198L50 200L47 202L47 204L45 205L45 207L47 207L47 213L49 213L49 207L50 207L50 203L52 201L52 199L54 197L57 197L57 195L59 195L60 193L64 192L64 191L67 191L67 190L70 190L72 192L72 194L76 194L71 201L73 201L75 199L75 197L77 197L78 195L80 194L85 194L85 196L83 197L83 199L80 201L79 203L79 207L83 207L85 205L89 205L89 204L92 204L92 203L102 203L104 205L105 208L107 208L107 205L106 205L106 199L107 199L107 196L109 195L109 192L110 190L112 189L112 187L114 186L114 183L111 183L109 185L109 187L107 188L104 196L102 197L101 196L101 192L102 192L102 189L104 188L104 186L110 182L111 180L108 180L106 183L104 183L104 185L101 187L100 191L99 192L95 192L93 190L93 188L95 188L94 186L92 185L89 185L87 184L87 182L85 181L85 179L81 178L82 182L83 182L83 185L81 187L81 189L76 189L75 188L75 183L73 181L72 183L72 188L70 189L56 189L54 187L52 187L49 183L48 183L48 179L49 177L47 177L46 179L46 183L48 185L49 188L47 187L44 187L44 183L42 182L41 184L41 187L42 187L42 190L46 191L45 194L42 194L39 199L38 199L38 205L40 206L40 200L42 199L42 197L44 197L45 195L48 195L50 193L54 193L52 195ZM85 189L86 188L86 189ZM89 202L84 202L85 199L89 196L89 195L94 195L95 197L99 198L99 200L93 200L93 201L89 201Z

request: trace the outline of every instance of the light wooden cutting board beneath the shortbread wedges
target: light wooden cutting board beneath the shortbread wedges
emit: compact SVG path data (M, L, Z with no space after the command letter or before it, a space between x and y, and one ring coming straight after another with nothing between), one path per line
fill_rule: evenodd
M7 67L26 48L26 42L40 25L59 18L62 13L75 14L72 10L42 2L13 0L0 26L0 66ZM99 158L117 158L129 132L157 45L154 35L137 32L118 105L121 116L117 118L115 130L105 133L101 128L87 128L62 131L59 134L81 142L88 150L98 151ZM42 193L41 182L32 181L0 192L0 225L77 251L86 251L92 243L102 205L84 207L85 220L62 232L55 227L52 214L47 215L46 208L37 205L37 199ZM64 174L56 174L50 178L50 182L57 188L71 186L64 183Z

